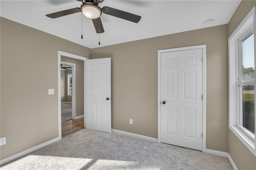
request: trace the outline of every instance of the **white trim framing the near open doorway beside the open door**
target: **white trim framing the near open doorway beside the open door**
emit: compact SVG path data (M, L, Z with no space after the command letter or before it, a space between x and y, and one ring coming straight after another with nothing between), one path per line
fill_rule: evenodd
M61 56L70 57L70 58L74 58L74 59L80 59L80 60L84 61L84 128L86 128L86 88L85 88L86 74L85 74L85 71L86 71L86 60L88 59L88 58L82 57L80 55L75 55L75 54L66 53L66 52L63 52L63 51L58 51L58 126L59 126L59 140L61 140L61 138L62 138L61 137L61 95L60 95L60 89L61 89L61 84L60 84Z

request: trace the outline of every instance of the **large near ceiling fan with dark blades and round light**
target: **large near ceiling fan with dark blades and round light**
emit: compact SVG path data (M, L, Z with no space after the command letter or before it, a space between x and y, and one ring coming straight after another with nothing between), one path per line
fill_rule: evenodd
M61 16L82 12L84 16L92 19L95 30L98 34L104 32L104 28L100 20L100 16L102 13L115 16L117 18L121 18L124 20L128 20L131 22L135 22L135 23L138 23L141 18L141 16L124 12L121 10L117 10L114 8L110 8L108 6L104 6L103 8L100 8L99 4L102 3L104 0L77 0L77 1L82 2L82 5L80 6L80 8L72 8L64 11L59 11L52 14L47 14L46 16L50 18L58 18Z

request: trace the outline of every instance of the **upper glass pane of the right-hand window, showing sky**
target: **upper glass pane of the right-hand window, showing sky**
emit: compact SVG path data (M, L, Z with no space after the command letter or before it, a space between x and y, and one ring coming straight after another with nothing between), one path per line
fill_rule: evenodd
M242 80L254 80L254 34L242 41L242 65Z

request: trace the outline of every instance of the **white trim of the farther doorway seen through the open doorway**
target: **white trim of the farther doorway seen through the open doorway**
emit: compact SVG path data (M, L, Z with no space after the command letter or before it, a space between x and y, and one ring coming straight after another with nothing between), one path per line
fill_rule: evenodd
M60 61L61 64L72 67L72 119L76 119L76 64ZM60 71L61 72L61 71ZM66 76L66 75L65 75ZM65 82L67 83L67 82ZM66 89L65 89L66 91ZM60 93L61 95L61 93ZM61 109L60 109L61 112ZM61 114L60 114L61 116Z

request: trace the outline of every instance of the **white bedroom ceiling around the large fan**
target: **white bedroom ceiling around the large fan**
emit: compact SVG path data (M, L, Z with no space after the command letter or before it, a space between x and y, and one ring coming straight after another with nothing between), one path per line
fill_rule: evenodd
M102 14L105 32L100 34L100 46L130 42L227 24L241 0L105 0L100 7L109 6L142 16L138 24ZM42 30L89 48L100 47L99 35L93 23L82 13L56 19L46 14L80 7L76 0L1 0L0 15L9 20ZM203 24L214 19L211 24Z

